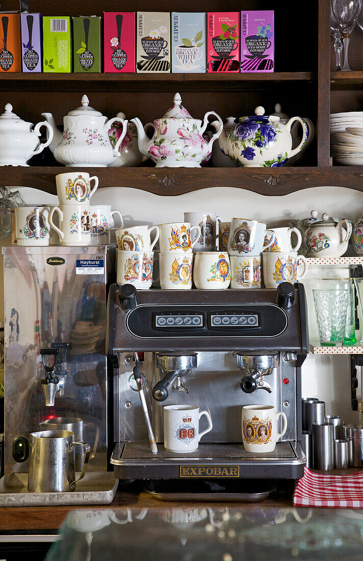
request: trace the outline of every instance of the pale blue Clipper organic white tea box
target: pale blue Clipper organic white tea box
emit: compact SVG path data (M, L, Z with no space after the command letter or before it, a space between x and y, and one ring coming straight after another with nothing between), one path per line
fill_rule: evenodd
M172 12L172 72L206 72L205 24L205 12Z

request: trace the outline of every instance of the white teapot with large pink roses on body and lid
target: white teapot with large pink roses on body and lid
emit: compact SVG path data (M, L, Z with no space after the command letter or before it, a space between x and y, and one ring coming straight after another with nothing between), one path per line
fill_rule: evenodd
M161 119L155 119L155 130L151 140L146 136L140 119L131 119L137 128L139 150L145 156L149 156L157 164L157 168L199 168L201 163L209 159L213 142L222 133L222 119L217 113L209 111L202 123L200 119L193 119L181 105L179 94L174 95L173 102L173 106ZM209 115L217 117L220 128L207 142L202 135L208 125Z

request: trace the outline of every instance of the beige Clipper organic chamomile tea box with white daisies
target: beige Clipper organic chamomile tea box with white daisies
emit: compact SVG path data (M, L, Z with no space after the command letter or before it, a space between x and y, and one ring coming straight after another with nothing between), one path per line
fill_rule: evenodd
M137 12L136 72L170 72L170 13Z

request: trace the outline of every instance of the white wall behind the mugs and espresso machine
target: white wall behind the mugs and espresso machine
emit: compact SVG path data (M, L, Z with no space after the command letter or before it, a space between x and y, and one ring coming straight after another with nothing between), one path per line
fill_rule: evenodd
M270 190L278 192L279 188L270 187ZM20 188L20 191L27 204L57 202L57 197L42 191L27 187ZM231 217L263 220L269 227L287 226L292 219L309 217L313 209L319 214L326 212L353 222L363 214L363 194L342 187L314 187L283 197L266 197L234 187L213 187L176 197L160 197L126 187L108 187L96 191L92 201L111 204L113 209L121 210L125 226L180 221L184 211L193 210L217 212L223 221ZM3 238L2 245L7 243L10 242ZM2 310L0 314L3 318ZM324 399L327 413L341 415L344 420L356 419L350 406L349 357L309 355L302 368L302 395Z

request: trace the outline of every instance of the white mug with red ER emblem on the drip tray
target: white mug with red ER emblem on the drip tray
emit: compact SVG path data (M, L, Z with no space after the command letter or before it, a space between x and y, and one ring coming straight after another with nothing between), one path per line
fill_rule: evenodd
M195 452L202 436L213 429L208 411L196 405L167 405L164 410L164 448L174 454ZM208 427L199 432L199 419L206 416Z

